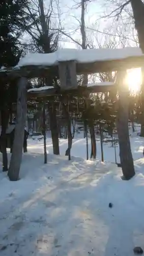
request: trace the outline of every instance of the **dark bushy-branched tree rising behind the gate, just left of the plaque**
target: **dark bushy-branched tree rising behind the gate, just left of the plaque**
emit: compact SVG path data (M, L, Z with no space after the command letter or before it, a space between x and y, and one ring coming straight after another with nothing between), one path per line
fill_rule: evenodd
M51 53L57 50L59 40L59 29L55 27L58 17L53 9L54 1L50 0L49 6L46 10L43 0L32 1L32 6L27 6L27 11L33 19L31 26L26 28L27 33L31 36L33 44L38 52ZM59 10L57 11L59 15ZM55 18L54 18L55 16ZM54 23L55 22L55 23ZM47 85L55 85L53 77L54 74L48 74L44 81ZM56 81L56 79L55 79ZM50 130L53 143L53 154L59 155L59 132L56 122L56 111L52 102L49 102L49 117L50 117Z

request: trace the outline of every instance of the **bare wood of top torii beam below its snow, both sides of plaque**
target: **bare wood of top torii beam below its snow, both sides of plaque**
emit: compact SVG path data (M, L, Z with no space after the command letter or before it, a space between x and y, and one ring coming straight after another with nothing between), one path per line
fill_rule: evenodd
M123 70L140 68L143 66L144 56L132 56L125 59L115 59L115 60L103 60L90 63L76 63L76 74L93 74L102 72L112 72L119 71L121 68ZM53 77L59 78L59 67L56 66L25 66L15 69L8 69L6 71L0 71L0 77L47 77L51 74Z

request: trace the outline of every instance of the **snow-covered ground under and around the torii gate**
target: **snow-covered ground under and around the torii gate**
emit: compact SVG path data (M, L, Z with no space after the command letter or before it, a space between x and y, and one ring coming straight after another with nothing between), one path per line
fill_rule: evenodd
M135 246L144 249L144 140L135 135L130 181L122 181L110 143L104 144L104 163L86 161L85 139L77 137L68 161L67 140L60 140L61 156L53 156L47 138L43 164L43 141L28 139L20 180L0 173L0 255L131 256Z

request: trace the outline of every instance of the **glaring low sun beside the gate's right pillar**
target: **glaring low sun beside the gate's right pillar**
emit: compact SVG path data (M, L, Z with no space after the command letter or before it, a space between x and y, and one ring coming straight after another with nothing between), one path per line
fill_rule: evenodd
M138 93L141 84L141 69L131 69L127 71L126 82L131 93Z

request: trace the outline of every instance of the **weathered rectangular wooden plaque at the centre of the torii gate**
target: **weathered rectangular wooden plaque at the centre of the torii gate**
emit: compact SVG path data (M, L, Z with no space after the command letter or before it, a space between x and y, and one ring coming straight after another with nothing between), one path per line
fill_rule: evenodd
M69 90L77 87L76 62L74 60L60 61L59 75L61 89Z

